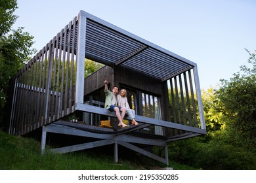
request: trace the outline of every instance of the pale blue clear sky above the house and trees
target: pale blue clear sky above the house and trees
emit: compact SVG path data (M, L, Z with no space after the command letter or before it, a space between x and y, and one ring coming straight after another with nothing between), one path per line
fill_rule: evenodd
M216 88L256 50L255 0L18 0L12 28L24 27L41 50L80 10L198 66L202 90Z

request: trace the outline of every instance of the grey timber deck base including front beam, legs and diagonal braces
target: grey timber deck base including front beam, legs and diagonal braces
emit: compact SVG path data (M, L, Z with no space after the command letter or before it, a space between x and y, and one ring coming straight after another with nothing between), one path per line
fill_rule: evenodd
M96 114L107 115L111 117L116 117L114 112L110 112L105 108L93 107L91 105L77 104L77 109L86 112L93 112ZM112 129L107 127L98 127L94 125L78 124L75 122L66 122L58 120L52 124L43 126L42 140L41 140L41 150L42 153L45 151L46 137L47 133L60 133L64 135L76 135L80 137L89 137L98 139L97 141L86 142L83 144L75 144L72 146L65 146L62 148L55 148L53 152L67 153L74 152L78 150L86 150L89 148L95 148L98 146L106 146L109 144L114 144L114 161L118 162L118 145L125 146L135 152L139 152L144 156L148 156L156 161L165 163L168 165L168 150L167 144L171 141L177 141L177 139L185 139L188 137L194 137L197 135L206 134L206 130L198 129L197 127L190 127L182 124L175 124L171 122L165 122L163 120L156 120L152 118L146 118L144 116L136 116L137 122L140 125L120 127L119 129ZM179 129L186 131L186 133L180 133L176 136L163 136L163 135L153 135L140 133L140 129L150 127L152 125L159 125L161 127ZM165 148L165 158L156 156L152 152L143 150L136 144L146 144L149 146L163 146Z

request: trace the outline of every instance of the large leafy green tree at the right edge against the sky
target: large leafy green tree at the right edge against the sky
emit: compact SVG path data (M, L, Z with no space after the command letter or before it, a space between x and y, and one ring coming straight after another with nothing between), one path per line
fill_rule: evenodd
M221 80L221 88L215 93L219 112L223 114L226 130L235 143L255 147L256 135L256 57L249 53L249 68L240 67L230 80Z

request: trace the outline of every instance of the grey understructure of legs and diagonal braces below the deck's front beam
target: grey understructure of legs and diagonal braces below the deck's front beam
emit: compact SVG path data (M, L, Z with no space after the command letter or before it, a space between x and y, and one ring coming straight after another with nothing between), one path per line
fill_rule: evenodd
M160 161L161 163L165 163L166 165L168 165L167 143L165 142L165 139L158 137L158 135L147 135L147 137L139 137L140 133L137 133L137 135L133 134L134 131L137 131L144 127L148 127L148 124L128 126L114 130L106 127L97 127L91 125L77 124L74 122L57 121L53 124L43 126L41 150L43 154L45 152L47 133L60 133L65 135L76 135L79 137L89 137L97 140L92 142L86 142L83 144L53 148L53 152L67 153L114 144L114 161L116 163L118 162L118 145L121 145L135 152L139 152L144 156L148 156L152 159L155 159L156 161ZM165 158L161 158L160 156L156 156L151 152L143 150L136 144L146 144L149 146L164 146Z

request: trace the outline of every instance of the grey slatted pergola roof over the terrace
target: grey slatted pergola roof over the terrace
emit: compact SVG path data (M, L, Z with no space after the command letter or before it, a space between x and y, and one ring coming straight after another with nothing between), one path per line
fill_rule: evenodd
M167 80L196 66L196 63L169 52L100 18L80 11L86 17L85 57Z

